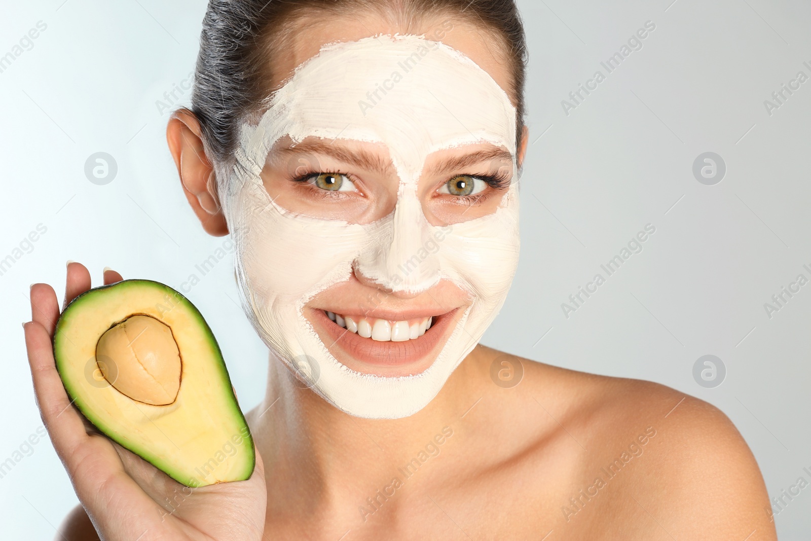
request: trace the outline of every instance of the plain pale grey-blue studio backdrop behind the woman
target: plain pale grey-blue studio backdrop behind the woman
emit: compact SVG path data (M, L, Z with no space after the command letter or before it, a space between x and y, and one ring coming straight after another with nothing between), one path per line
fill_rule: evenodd
M798 71L811 76L811 5L779 0L521 0L530 46L530 149L521 178L521 266L483 342L530 359L654 380L719 406L753 449L770 496L811 481L811 285L769 317L764 303L811 268L811 81L779 109L764 101ZM225 238L200 229L165 146L165 101L193 69L204 2L3 2L0 57L38 21L30 49L0 72L3 212L0 259L2 539L50 539L76 504L48 440L15 455L41 420L25 361L28 284L62 294L64 261L179 288L204 313L242 406L264 393L266 354L236 300L232 261L202 275ZM642 49L564 112L561 101L646 21ZM108 152L112 182L84 164ZM727 173L693 177L703 152ZM641 253L567 318L561 303L652 224ZM35 235L36 236L36 235ZM30 252L30 253L28 253ZM98 282L97 282L98 283ZM97 285L95 283L94 285ZM693 380L702 355L723 384ZM640 405L644 407L644 405ZM36 438L35 438L36 439ZM28 449L32 449L29 453ZM711 449L707 449L711 453ZM719 457L720 462L723 457ZM808 539L811 487L776 517L781 539Z

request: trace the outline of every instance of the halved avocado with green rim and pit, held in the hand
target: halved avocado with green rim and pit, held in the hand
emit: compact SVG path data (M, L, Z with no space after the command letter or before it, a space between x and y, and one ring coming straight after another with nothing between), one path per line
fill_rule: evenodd
M251 477L253 439L217 340L169 286L125 280L79 295L59 317L54 359L82 414L172 479Z

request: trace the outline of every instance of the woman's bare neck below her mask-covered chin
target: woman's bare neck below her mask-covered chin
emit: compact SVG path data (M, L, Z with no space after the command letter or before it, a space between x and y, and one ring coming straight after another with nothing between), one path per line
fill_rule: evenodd
M423 410L404 419L345 414L271 358L264 401L250 415L268 481L268 517L290 509L358 513L358 505L393 479L405 482L414 474L414 458L430 460L440 453L439 442L453 434L454 424L479 397L479 350L467 356ZM346 505L354 500L357 505Z

